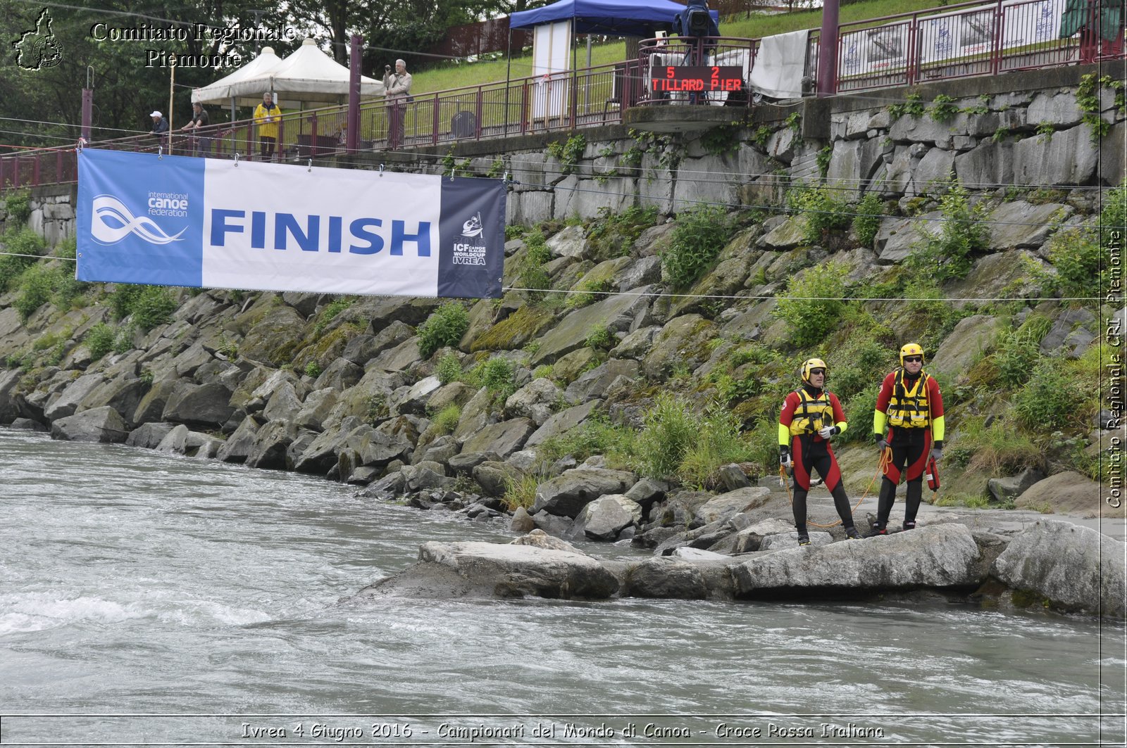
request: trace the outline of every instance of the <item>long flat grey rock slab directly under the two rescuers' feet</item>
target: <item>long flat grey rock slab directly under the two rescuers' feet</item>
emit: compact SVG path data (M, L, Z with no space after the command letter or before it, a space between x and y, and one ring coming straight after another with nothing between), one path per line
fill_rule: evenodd
M969 589L986 576L978 544L964 525L933 525L863 541L795 547L731 569L740 598L922 587Z

